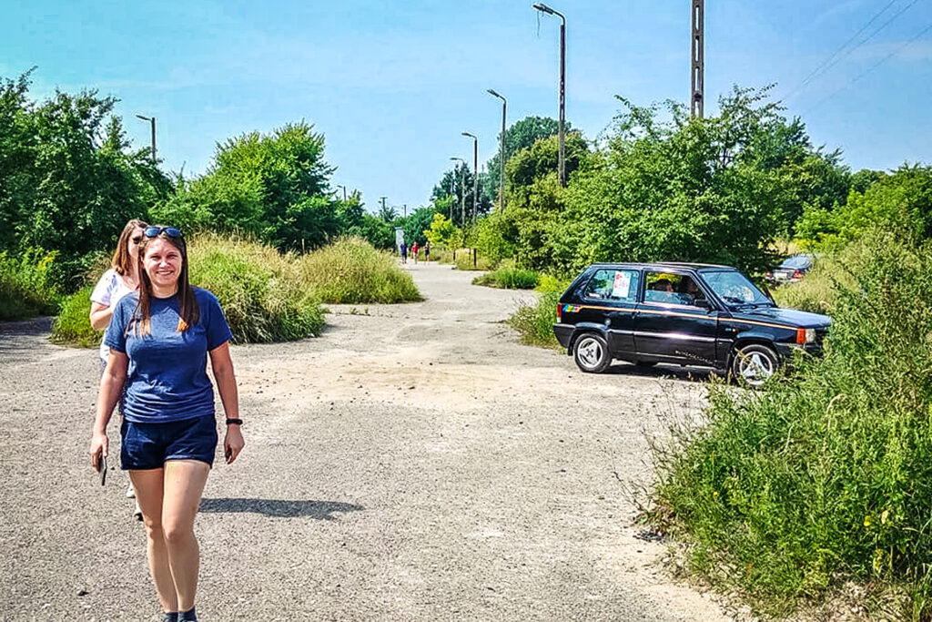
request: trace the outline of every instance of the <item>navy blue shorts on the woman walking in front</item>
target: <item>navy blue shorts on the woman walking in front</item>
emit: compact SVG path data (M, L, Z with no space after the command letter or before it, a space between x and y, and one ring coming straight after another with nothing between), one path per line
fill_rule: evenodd
M213 465L217 424L213 415L180 422L120 426L120 465L124 471L160 469L169 460L198 460Z

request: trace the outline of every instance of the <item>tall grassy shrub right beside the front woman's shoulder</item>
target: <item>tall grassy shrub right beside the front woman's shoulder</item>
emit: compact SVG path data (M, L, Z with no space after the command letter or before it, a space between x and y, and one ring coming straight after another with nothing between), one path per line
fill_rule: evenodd
M203 235L188 243L191 284L220 300L238 343L304 339L320 333L323 311L302 283L295 256L270 246Z

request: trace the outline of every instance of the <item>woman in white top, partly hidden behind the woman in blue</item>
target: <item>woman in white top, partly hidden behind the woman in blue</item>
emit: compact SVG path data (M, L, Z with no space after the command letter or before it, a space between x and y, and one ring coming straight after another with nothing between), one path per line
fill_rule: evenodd
M119 299L139 289L139 243L143 242L143 230L146 227L148 225L137 218L133 218L123 227L123 232L120 233L117 241L117 250L110 260L111 268L103 273L94 291L90 294L90 327L94 330L106 328L110 324L110 316L113 315L114 306ZM110 355L110 348L103 342L103 339L101 339L100 355L101 369L103 369ZM132 490L132 484L126 494L130 499L136 496ZM143 519L139 504L136 504L133 516Z

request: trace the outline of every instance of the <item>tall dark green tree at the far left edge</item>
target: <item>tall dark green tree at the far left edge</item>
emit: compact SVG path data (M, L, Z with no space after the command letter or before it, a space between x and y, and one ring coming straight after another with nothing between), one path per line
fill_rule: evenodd
M0 250L57 252L51 279L71 289L170 184L146 150L129 150L116 100L56 91L36 104L29 76L0 82Z

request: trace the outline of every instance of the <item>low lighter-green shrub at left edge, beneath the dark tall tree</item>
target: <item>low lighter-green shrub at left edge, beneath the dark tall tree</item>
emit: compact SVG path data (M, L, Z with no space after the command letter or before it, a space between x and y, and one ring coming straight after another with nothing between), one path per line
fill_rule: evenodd
M55 312L60 295L49 278L55 256L40 250L19 258L0 252L0 321Z

